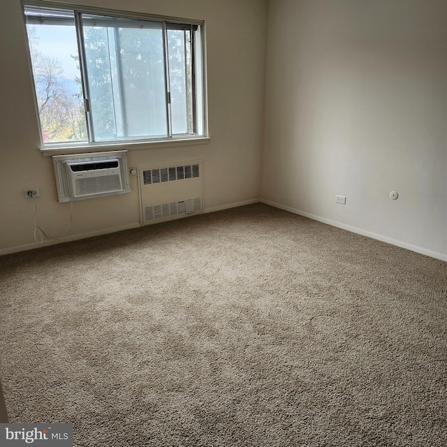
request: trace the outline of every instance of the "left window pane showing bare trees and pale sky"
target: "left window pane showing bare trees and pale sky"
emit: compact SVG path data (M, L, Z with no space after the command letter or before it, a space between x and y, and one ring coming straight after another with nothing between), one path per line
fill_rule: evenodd
M43 142L87 141L73 11L40 8L27 33Z

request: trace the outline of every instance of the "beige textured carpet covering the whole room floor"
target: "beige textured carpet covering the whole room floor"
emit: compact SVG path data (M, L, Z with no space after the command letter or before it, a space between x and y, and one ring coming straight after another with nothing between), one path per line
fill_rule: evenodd
M11 422L75 446L447 445L447 263L249 205L0 258Z

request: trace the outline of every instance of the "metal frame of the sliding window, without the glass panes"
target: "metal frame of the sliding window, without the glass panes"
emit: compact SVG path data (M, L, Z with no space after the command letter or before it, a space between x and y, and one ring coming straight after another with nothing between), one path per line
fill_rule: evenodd
M27 31L27 16L25 15L25 8L29 7L42 7L42 8L54 8L59 10L72 10L75 17L75 31L77 35L77 44L78 44L78 56L80 57L80 76L82 82L82 96L84 98L84 110L85 110L85 118L87 123L87 141L81 142L50 142L45 143L43 141L43 131L41 127L41 117L38 113L38 101L37 101L37 90L36 84L34 81L34 71L31 61L31 46L29 43L28 31ZM197 48L194 48L193 57L200 58L200 78L201 85L200 87L200 99L197 100L195 98L193 104L193 113L197 114L197 111L201 111L201 116L195 116L195 122L193 126L198 126L203 129L203 132L200 135L194 134L177 134L173 135L172 133L172 123L171 123L171 114L170 112L166 115L166 125L168 127L168 135L162 136L161 138L123 138L123 139L115 139L115 140L101 140L101 141L93 141L91 140L91 136L93 135L92 126L91 126L91 114L89 114L88 108L88 79L86 66L85 66L85 44L82 36L82 24L80 21L80 17L82 14L91 14L91 15L103 15L109 17L118 17L124 19L133 19L133 20L148 20L155 22L162 22L163 24L163 54L164 54L164 71L166 73L166 82L165 82L165 94L166 94L166 110L170 108L170 88L169 88L169 79L168 79L168 39L167 39L167 31L169 24L179 24L179 25L191 25L200 26L200 42L198 43L198 52ZM205 20L196 20L189 18L180 18L180 17L170 17L165 15L154 15L147 13L137 13L128 10L115 10L109 8L97 8L94 6L81 6L75 5L73 3L65 3L65 2L55 2L55 1L46 1L46 0L22 0L22 17L24 20L24 28L25 28L25 36L27 39L27 53L29 59L29 68L31 74L31 82L33 85L33 96L34 103L36 108L36 119L38 124L38 133L40 138L40 147L41 152L50 152L51 155L56 153L66 153L67 150L71 150L71 152L85 152L90 149L97 150L110 150L113 147L125 147L126 149L142 149L147 147L169 147L169 146L177 146L177 145L195 145L195 144L203 144L207 143L210 140L209 132L208 132L208 108L207 108L207 64L206 64L206 46L205 46ZM196 85L196 66L193 68L193 89L198 89ZM87 100L87 101L86 101ZM200 119L200 124L197 121Z

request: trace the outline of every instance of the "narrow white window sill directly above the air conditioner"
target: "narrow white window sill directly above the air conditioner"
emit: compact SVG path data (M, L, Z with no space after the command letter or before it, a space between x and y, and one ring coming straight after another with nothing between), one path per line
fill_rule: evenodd
M210 142L210 137L184 138L178 140L158 140L145 142L116 142L98 145L73 145L43 147L41 154L43 156L64 155L64 154L85 154L89 152L108 152L115 150L138 150L138 149L156 149L159 147L181 147L206 145Z

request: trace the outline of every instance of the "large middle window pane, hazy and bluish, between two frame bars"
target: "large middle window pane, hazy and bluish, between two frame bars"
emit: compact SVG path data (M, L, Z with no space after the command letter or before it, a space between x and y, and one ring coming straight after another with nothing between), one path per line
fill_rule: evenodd
M166 137L163 23L82 15L96 141Z

